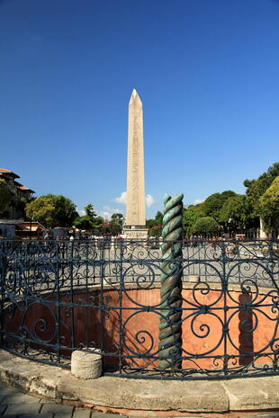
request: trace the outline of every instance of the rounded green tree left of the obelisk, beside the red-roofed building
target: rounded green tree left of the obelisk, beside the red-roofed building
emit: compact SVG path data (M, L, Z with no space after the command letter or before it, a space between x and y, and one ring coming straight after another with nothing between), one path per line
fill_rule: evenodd
M71 227L77 216L76 205L62 195L47 194L28 203L25 213L46 227Z

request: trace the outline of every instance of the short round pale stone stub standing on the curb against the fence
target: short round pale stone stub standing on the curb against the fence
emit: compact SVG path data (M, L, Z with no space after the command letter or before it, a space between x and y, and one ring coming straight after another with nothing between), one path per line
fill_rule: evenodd
M71 373L76 378L100 378L102 375L102 356L93 351L73 351Z

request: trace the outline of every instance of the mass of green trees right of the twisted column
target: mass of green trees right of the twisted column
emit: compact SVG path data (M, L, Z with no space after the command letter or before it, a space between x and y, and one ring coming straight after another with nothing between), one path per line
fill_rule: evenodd
M212 193L202 203L184 208L184 236L217 231L231 235L255 229L259 227L259 217L271 229L277 230L278 176L279 163L275 163L257 179L244 182L246 194L237 194L230 190ZM160 225L157 218L148 219L149 232Z

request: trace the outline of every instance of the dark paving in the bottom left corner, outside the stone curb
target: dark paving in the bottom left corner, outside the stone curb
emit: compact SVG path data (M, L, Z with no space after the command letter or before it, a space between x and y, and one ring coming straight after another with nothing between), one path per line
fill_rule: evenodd
M0 383L0 416L3 418L115 418L118 415L56 404L51 399L26 395L19 389L4 387Z

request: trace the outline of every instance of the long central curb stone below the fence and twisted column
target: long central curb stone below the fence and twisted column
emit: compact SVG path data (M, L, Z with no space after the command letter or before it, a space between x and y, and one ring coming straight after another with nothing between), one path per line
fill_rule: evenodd
M102 377L78 385L73 376L58 382L58 390L72 393L90 405L156 411L224 412L229 399L219 382L158 381Z

